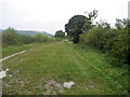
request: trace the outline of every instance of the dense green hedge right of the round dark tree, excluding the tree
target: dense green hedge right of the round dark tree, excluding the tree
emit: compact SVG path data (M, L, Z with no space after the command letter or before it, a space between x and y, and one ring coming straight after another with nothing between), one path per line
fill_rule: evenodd
M109 54L116 66L129 65L130 20L119 22L116 23L116 28L94 26L89 32L80 34L80 43Z

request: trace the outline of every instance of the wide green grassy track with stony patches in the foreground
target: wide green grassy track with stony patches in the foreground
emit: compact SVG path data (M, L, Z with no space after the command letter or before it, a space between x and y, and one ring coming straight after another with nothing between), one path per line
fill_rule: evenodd
M87 46L69 43L39 45L3 61L3 94L20 95L127 95L128 77L113 68L107 56ZM53 81L54 83L50 84ZM56 84L74 81L72 88Z

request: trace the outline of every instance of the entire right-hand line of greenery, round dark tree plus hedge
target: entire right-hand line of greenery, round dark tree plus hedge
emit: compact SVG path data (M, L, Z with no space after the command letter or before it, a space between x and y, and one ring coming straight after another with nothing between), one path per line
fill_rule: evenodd
M107 22L93 24L98 11L73 16L65 25L65 31L74 43L90 45L113 57L115 66L130 64L130 19L116 19L115 27Z

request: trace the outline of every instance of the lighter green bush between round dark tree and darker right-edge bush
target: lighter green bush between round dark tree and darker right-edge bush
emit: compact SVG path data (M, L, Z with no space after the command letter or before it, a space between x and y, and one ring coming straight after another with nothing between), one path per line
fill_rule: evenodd
M110 51L115 31L109 28L93 27L89 32L80 36L80 43L86 43L102 52Z

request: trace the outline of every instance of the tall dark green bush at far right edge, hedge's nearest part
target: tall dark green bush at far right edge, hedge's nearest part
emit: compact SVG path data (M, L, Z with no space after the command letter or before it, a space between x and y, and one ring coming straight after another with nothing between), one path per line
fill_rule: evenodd
M117 25L118 24L118 25ZM115 58L115 63L118 61L118 66L123 64L130 64L130 19L118 19L116 23L117 36L115 37L114 48L112 55Z

